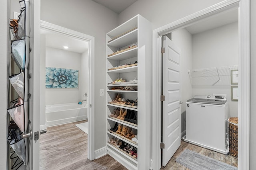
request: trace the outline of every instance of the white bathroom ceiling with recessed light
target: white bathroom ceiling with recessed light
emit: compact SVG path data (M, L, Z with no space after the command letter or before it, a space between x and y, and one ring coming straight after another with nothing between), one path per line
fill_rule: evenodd
M46 36L46 47L72 51L75 53L84 53L88 49L88 43L81 39L76 39L74 37L69 37L67 35L61 35L42 29L41 34ZM68 49L64 49L63 46L68 46Z

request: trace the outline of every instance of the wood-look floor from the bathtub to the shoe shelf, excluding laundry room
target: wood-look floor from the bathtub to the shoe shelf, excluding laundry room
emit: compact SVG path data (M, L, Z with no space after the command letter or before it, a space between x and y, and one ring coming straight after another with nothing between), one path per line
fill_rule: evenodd
M40 170L127 170L111 156L90 161L87 134L75 124L48 127L40 137Z

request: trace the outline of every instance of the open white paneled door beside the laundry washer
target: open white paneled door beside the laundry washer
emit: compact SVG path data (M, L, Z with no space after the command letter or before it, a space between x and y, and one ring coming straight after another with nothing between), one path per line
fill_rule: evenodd
M180 49L168 37L163 39L162 166L166 166L180 147Z

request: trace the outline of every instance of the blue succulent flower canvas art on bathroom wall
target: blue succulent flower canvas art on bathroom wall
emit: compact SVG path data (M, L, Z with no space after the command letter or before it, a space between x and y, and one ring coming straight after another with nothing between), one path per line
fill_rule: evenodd
M46 67L46 88L78 88L79 71L68 68Z

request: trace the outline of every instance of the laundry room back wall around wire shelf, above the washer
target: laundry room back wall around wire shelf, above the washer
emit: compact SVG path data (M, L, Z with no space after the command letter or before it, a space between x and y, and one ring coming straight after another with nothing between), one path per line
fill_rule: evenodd
M238 22L193 35L192 47L193 69L238 65ZM230 82L230 76L221 76L220 79ZM227 94L230 116L238 117L238 102L231 101L230 83L228 86L218 86L218 83L214 86L193 86L193 95L197 94Z

